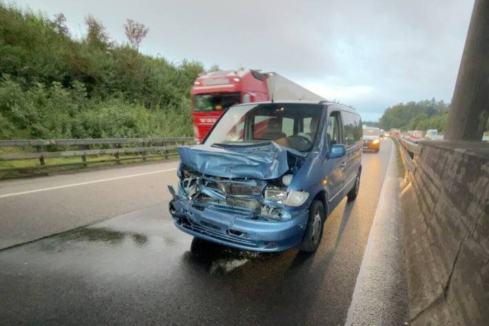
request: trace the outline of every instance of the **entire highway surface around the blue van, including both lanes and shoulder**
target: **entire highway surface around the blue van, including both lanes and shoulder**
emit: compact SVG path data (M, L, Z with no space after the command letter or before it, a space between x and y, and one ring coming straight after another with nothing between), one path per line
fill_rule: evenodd
M392 141L364 152L359 196L332 212L313 255L178 231L167 211L177 165L1 182L2 325L404 325Z

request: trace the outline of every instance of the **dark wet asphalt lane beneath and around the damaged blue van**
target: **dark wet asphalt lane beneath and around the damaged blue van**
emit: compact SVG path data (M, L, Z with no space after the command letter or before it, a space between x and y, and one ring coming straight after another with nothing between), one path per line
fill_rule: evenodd
M360 194L332 212L313 255L194 240L176 230L167 201L4 249L0 323L344 325L393 148L364 153ZM405 316L401 300L384 325Z

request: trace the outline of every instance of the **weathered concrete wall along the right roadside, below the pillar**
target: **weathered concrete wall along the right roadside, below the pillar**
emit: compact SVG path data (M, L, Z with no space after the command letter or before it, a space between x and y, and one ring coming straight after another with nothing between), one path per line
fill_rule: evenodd
M410 325L489 325L489 143L420 145L401 196Z

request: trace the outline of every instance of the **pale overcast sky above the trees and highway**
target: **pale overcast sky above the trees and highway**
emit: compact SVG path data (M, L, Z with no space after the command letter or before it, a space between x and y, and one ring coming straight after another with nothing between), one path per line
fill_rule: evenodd
M149 26L141 51L206 67L275 71L376 120L399 102L452 97L473 0L28 0L63 12L72 34L93 14L118 42Z

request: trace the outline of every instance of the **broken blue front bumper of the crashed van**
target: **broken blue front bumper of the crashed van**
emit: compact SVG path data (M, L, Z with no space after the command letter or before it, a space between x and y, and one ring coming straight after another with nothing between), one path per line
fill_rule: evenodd
M170 202L178 229L207 241L240 249L278 252L302 241L308 210L293 210L289 221L256 221L247 212L214 205L194 207L182 198Z

